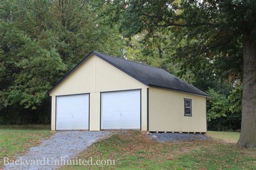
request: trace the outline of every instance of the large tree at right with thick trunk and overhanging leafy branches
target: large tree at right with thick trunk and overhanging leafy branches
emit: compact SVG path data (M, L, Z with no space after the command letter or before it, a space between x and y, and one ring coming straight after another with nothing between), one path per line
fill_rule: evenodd
M190 49L177 48L177 53L181 51L192 64L197 64L196 58L202 55L208 62L231 59L235 66L230 65L229 71L239 79L235 70L239 70L243 63L242 123L238 145L256 147L256 1L144 0L116 2L116 5L119 8L113 10L114 18L122 15L120 22L127 37L144 30L165 28L177 33L186 32L184 36L190 39L188 42L194 40L196 43L188 44ZM177 33L173 35L178 37Z

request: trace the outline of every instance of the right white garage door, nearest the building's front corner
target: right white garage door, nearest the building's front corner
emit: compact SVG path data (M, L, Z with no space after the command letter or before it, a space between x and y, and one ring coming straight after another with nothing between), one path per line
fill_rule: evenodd
M101 107L103 130L140 129L140 90L104 92Z

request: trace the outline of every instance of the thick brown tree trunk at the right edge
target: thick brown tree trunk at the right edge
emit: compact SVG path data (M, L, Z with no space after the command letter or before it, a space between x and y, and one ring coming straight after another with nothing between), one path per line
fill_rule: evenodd
M251 37L250 33L244 33L242 40L242 124L238 145L245 148L256 147L256 43Z

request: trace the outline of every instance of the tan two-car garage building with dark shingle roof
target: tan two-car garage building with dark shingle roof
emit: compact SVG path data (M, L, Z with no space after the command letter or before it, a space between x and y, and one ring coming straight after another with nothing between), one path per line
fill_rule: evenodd
M95 51L47 94L52 131L207 131L208 94L163 69Z

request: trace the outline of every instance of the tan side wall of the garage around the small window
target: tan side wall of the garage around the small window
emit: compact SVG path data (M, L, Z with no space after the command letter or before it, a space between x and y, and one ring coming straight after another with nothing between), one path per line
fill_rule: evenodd
M184 116L184 98L192 99L192 117ZM150 87L149 130L206 132L205 102L205 97Z

